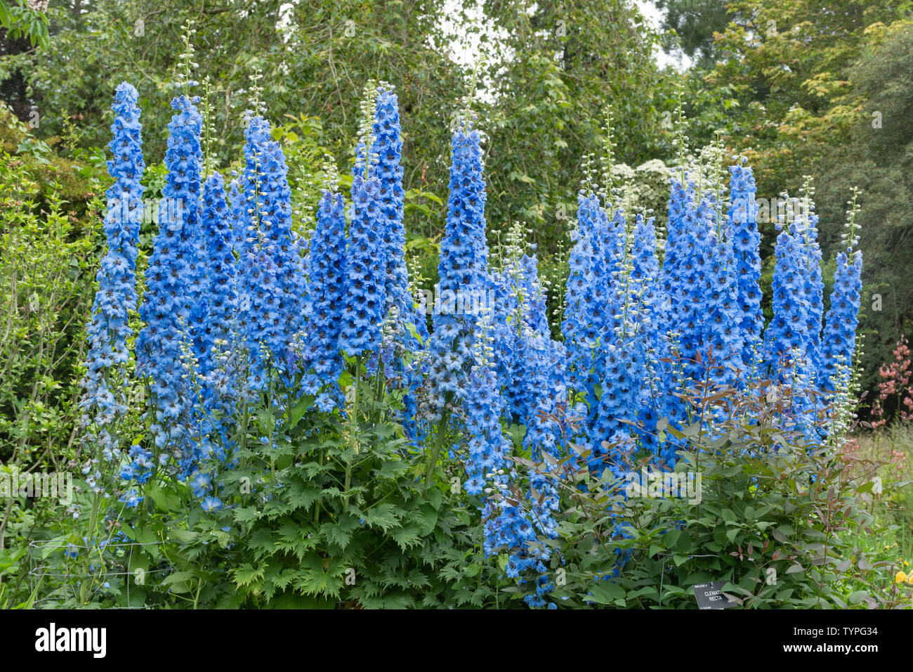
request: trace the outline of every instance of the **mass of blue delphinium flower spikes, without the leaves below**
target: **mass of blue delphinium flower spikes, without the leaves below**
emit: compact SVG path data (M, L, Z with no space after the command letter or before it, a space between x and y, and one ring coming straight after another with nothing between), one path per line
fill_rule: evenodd
M715 387L771 376L792 388L800 418L821 410L813 392L849 389L862 266L855 200L824 335L822 253L807 186L806 214L781 222L773 319L765 331L750 168L729 168L727 210L719 152L709 162L682 165L670 181L666 240L657 240L648 212L631 207L630 194L613 189L611 174L599 188L591 172L578 195L559 342L546 311L549 285L540 282L535 247L525 246L521 223L510 229L497 270L489 268L481 135L465 112L452 135L429 335L426 306L414 301L417 288L405 262L403 145L392 87L366 88L348 230L346 200L329 167L307 242L292 227L289 168L266 119L248 115L243 172L226 194L223 176L201 180L201 115L196 99L184 94L172 103L165 200L136 343L138 370L151 392L152 441L123 456L107 427L126 412L121 369L130 357L129 312L136 304L143 170L136 100L132 87L118 88L108 251L98 274L81 404L100 453L131 481L121 499L128 507L142 501L142 484L157 466L186 479L204 510L223 507L216 475L222 467L204 463L226 461L233 413L247 412L262 390L269 403L296 401L290 394L273 398L276 380L308 403L313 399L309 412L349 413L357 400L347 406L341 381L345 356L352 356L354 389L366 370L376 374L378 399L384 384L401 393L397 420L412 442L406 450L422 449L430 438L439 442L429 450L429 485L453 429L448 422L462 423L464 441L448 448L452 457L465 457L465 491L477 497L471 501L482 514L485 553L505 552L509 577L535 581L530 606L553 606L545 572L555 560L543 539L558 535L559 469L587 461L599 475L624 478L637 453L654 467L674 465L687 447L677 429L694 421L688 393L698 388L706 397ZM891 375L906 386L908 362L900 359L908 351L898 348L897 357ZM882 401L897 386L883 392ZM710 407L697 420L713 432L721 411ZM437 423L436 432L428 431L429 422ZM90 481L98 479L98 467L86 465Z

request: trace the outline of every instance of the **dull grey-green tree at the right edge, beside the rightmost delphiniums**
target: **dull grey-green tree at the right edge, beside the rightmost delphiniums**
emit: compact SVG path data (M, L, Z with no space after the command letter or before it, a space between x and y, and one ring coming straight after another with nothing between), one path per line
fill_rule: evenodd
M897 339L913 328L913 21L872 26L866 52L849 77L864 101L846 144L834 145L822 161L817 197L823 218L837 219L845 208L845 191L861 190L862 244L866 254L860 333L866 334L861 379L874 389L877 371L891 357ZM824 240L832 249L834 227ZM876 296L877 294L877 296Z

